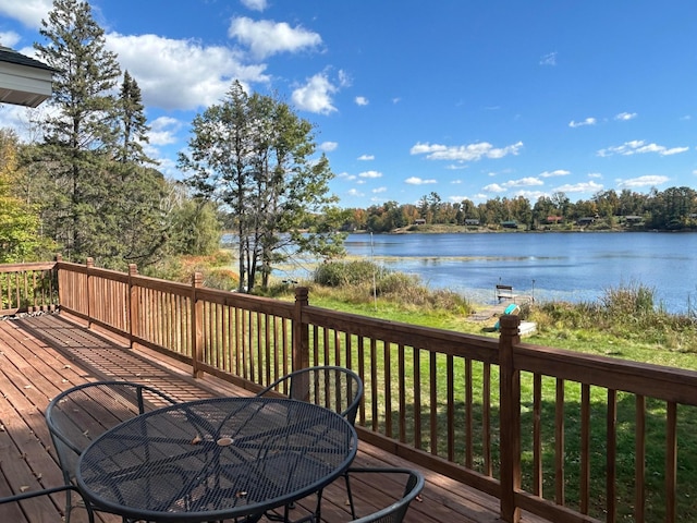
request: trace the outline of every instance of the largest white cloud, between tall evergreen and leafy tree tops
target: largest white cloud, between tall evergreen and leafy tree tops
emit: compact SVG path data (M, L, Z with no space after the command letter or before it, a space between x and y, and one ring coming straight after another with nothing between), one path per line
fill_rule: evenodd
M269 80L264 74L266 65L245 65L227 47L118 33L107 35L107 46L138 83L146 106L186 110L208 107L220 101L232 78L242 83Z

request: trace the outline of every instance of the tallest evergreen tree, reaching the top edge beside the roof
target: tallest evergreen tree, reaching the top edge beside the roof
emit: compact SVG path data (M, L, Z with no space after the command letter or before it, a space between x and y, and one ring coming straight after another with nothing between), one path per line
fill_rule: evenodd
M54 0L40 34L47 42L35 44L38 58L58 71L51 98L57 111L45 122L45 160L60 196L45 223L69 259L83 259L98 253L111 232L101 210L113 193L108 162L118 135L111 92L121 72L87 2Z

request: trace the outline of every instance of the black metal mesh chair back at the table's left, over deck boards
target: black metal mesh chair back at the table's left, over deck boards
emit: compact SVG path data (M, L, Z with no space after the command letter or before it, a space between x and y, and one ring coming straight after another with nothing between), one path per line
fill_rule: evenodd
M175 403L163 392L130 381L95 381L68 389L51 400L46 423L66 484L87 446L115 425Z

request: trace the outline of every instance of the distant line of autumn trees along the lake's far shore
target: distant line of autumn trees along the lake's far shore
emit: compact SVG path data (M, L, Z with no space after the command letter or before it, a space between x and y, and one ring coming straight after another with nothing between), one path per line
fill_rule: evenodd
M418 204L387 202L367 209L348 209L345 229L389 232L414 224L456 224L484 228L519 227L528 230L589 227L697 230L697 192L689 187L600 191L576 203L563 192L541 196L535 204L524 196L496 197L475 205L470 199L443 202L437 193Z

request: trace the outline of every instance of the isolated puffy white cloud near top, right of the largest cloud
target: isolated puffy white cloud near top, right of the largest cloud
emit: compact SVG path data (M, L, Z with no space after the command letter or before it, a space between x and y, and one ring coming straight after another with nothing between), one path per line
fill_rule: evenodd
M260 59L279 52L311 49L322 42L317 33L303 27L291 27L285 22L277 23L269 20L256 22L246 16L230 22L228 36L248 46L252 54Z

